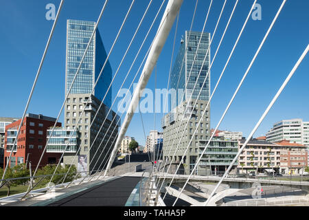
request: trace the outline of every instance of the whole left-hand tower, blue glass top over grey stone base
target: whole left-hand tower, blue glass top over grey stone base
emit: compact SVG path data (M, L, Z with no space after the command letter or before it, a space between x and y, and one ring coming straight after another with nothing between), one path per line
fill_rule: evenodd
M94 27L95 22L91 21L67 21L66 94L69 92L69 87L80 65L80 61L87 48ZM108 150L109 148L113 148L113 141L117 138L119 127L119 123L117 123L119 116L116 115L114 111L108 113L109 109L111 109L111 89L104 98L112 78L112 69L109 61L106 62L102 75L98 80L98 76L100 75L106 58L107 55L100 32L96 30L93 41L82 63L82 68L80 72L78 72L76 81L73 83L65 107L64 129L67 131L70 129L78 129L80 133L80 151L78 151L78 157L75 157L76 153L73 151L66 152L63 162L64 164L73 163L78 167L78 163L84 159L82 163L87 164L83 166L87 166L87 168L84 169L88 171L93 169L97 170L102 160L108 159L108 155L111 153L111 151ZM98 84L95 89L93 89L97 80ZM93 93L91 94L92 90ZM89 102L87 104L88 99ZM102 107L99 111L101 103ZM84 113L82 113L83 111ZM97 112L98 115L94 118ZM80 121L78 121L79 118ZM105 118L107 119L104 122ZM114 118L115 120L111 125ZM103 122L104 124L102 126ZM77 123L78 127L76 128ZM110 125L111 129L108 130ZM101 126L102 129L100 130ZM115 130L113 131L114 128ZM94 142L95 138L96 141ZM106 147L104 148L104 146ZM74 157L76 159L73 161ZM97 161L98 163L96 163ZM102 164L105 163L103 162Z

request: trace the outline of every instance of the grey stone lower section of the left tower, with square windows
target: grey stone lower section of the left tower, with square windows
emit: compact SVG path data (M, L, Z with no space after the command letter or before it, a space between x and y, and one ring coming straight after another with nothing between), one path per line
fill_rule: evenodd
M117 123L119 115L114 111L110 111L107 115L109 108L106 107L105 104L102 104L102 107L98 110L101 101L98 100L98 98L95 98L95 96L91 96L91 100L86 106L86 101L89 98L88 96L89 94L79 94L78 96L73 96L75 98L68 98L67 100L65 110L65 129L76 129L79 131L80 151L78 151L78 157L75 157L76 153L74 152L66 152L63 157L63 162L64 164L73 163L78 166L78 158L84 157L86 160L84 164L87 164L87 170L89 171L93 169L97 170L99 169L100 164L105 164L102 160L106 161L108 155L111 153L109 149L113 147L113 142L115 138L117 138L120 121ZM83 110L84 113L82 114ZM94 120L93 118L97 111L99 112ZM78 122L80 115L82 115L82 118ZM114 118L115 120L113 120ZM112 121L113 124L111 125ZM76 128L77 122L78 127ZM102 153L102 151L104 152Z

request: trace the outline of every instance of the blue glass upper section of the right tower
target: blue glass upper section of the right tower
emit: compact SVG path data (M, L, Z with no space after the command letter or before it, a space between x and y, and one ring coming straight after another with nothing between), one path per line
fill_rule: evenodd
M202 92L198 100L206 100L206 101L209 100L210 74L207 77L204 86L203 82L209 69L210 49L208 53L207 50L209 47L210 34L209 33L202 34L201 43L198 47L198 42L200 41L201 34L202 32L192 31L191 34L188 31L185 32L185 40L181 43L179 54L176 57L174 67L172 69L170 87L171 89L183 89L183 91L185 91L185 97L183 100L189 99L192 92L193 92L192 99L197 99L198 93L201 89ZM198 52L196 54L197 47ZM196 58L194 61L195 54ZM207 58L205 60L205 63L203 64L206 54ZM198 78L198 74L200 71L201 74L200 77ZM196 87L194 89L196 80L198 83L196 84ZM178 99L180 98L181 97L178 97ZM171 106L173 107L175 105L174 104L175 102L176 106L178 106L179 102L183 100L178 100L178 102L176 102L176 100L171 100Z

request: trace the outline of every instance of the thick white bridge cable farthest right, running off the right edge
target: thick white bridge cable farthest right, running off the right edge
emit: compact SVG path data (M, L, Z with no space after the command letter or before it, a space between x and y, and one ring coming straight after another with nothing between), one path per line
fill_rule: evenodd
M233 159L233 161L231 162L231 164L229 165L229 168L227 168L227 170L225 171L225 174L221 177L220 181L218 182L218 184L216 185L216 187L214 188L214 190L211 192L211 194L209 195L209 198L207 199L207 201L205 202L204 206L207 206L207 204L209 203L209 201L211 200L211 198L214 196L214 194L216 193L216 190L218 190L218 187L220 186L220 184L222 183L222 181L225 179L225 177L227 176L227 174L229 173L229 171L231 170L232 166L235 164L236 160L238 159L238 157L240 156L240 154L242 153L242 151L244 150L244 148L247 146L247 144L249 143L249 141L251 140L251 137L253 137L255 131L258 129L258 127L260 126L260 124L262 123L262 121L264 120L264 118L266 117L266 115L268 114L268 112L271 110L271 108L273 107L273 104L275 104L277 98L280 96L280 94L282 94L282 91L284 90L284 88L286 87L286 85L288 84L288 82L290 81L290 78L292 78L292 76L295 74L297 68L299 67L299 65L301 64L301 62L304 60L305 56L307 55L309 50L309 45L307 45L306 50L304 51L304 53L301 55L301 57L299 58L299 60L297 61L297 63L295 64L295 66L293 67L292 71L290 72L290 74L288 74L288 77L286 78L286 80L284 80L284 83L282 84L282 86L279 88L279 90L277 91L277 94L275 94L275 97L273 98L273 100L271 100L271 103L268 105L268 107L266 108L266 110L264 111L263 115L261 116L260 120L258 121L257 124L255 124L254 129L251 131L249 137L247 138L246 142L244 142L242 148L240 148L240 150L238 151L236 157Z

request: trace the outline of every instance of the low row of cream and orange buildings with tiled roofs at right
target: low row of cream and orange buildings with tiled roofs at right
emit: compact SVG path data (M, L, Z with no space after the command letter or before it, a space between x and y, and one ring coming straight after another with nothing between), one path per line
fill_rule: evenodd
M241 148L246 140L239 140ZM282 173L300 174L306 166L308 153L306 146L288 141L267 142L250 140L240 154L238 173Z

